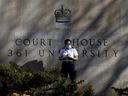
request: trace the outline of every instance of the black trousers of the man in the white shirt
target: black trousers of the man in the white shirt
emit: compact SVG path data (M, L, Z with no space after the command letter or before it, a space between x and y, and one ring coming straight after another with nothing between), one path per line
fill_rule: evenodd
M72 81L76 79L76 71L73 61L63 61L62 63L61 76L67 78L68 75Z

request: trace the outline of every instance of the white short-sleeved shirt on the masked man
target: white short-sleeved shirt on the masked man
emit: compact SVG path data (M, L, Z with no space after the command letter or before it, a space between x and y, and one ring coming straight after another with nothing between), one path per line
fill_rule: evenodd
M74 58L74 56L78 56L78 52L75 48L63 48L60 50L60 53L59 53L59 56L60 57L71 57L71 58Z

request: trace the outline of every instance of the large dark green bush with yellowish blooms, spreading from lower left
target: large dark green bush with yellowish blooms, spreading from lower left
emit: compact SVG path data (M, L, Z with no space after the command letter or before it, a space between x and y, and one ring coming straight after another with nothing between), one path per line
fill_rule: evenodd
M83 80L71 82L60 78L58 68L33 72L10 62L0 65L0 77L0 95L2 96L13 93L30 96L94 96L91 87L83 90L85 94L79 92L78 85L82 84Z

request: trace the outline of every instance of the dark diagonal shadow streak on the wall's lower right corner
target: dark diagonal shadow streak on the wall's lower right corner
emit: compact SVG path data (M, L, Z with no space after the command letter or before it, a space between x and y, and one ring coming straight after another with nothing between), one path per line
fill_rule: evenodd
M97 96L105 96L107 94L107 91L119 79L120 75L128 68L127 58L128 58L128 56L125 56L118 60L118 63L116 64L111 77L108 79L108 82L106 83L104 88L101 90L101 92L97 94ZM105 72L103 72L101 74L105 74Z

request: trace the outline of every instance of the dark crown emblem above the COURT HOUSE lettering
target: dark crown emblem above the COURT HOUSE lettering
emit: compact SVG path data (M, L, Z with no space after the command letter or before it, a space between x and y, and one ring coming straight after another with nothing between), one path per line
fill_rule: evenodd
M61 9L56 9L54 12L56 22L59 23L69 23L71 21L71 10L64 9L61 5Z

